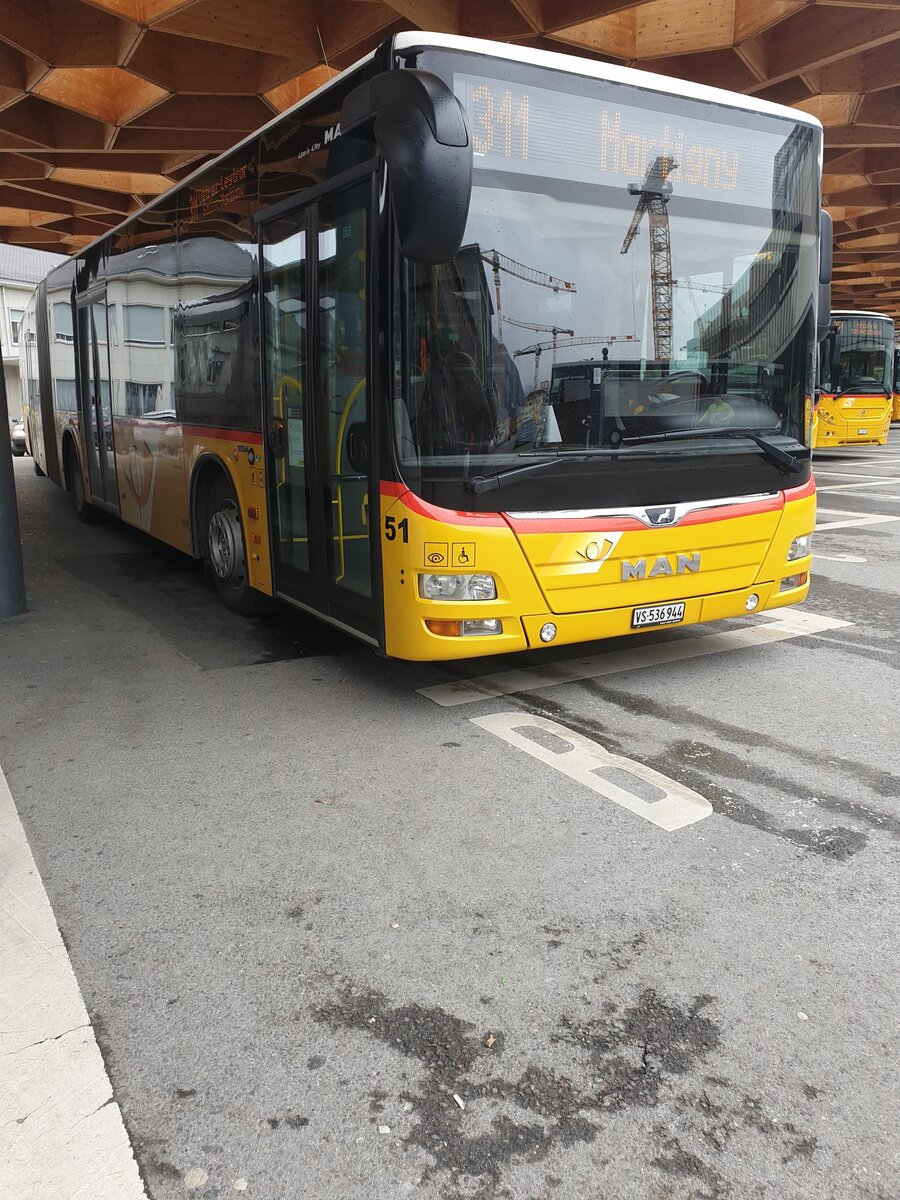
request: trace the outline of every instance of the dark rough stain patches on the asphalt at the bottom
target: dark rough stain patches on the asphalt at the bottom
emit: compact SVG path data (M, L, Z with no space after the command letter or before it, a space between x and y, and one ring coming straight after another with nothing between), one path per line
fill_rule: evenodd
M425 1152L422 1181L434 1180L445 1200L511 1195L504 1180L516 1164L593 1142L605 1120L664 1100L690 1111L697 1146L685 1147L683 1135L659 1126L653 1165L686 1181L697 1200L725 1200L731 1186L702 1151L721 1153L739 1130L774 1135L782 1162L811 1154L816 1142L772 1121L758 1100L736 1099L727 1080L696 1082L722 1040L713 1009L712 996L682 1003L647 988L631 1004L607 1001L598 1016L558 1019L550 1042L566 1063L574 1054L574 1069L532 1063L509 1074L498 1069L506 1049L500 1031L478 1030L439 1007L394 1004L380 991L348 984L313 1016L334 1033L365 1034L424 1068L418 1085L403 1084L397 1096L413 1120L401 1145ZM378 1099L380 1108L386 1093Z

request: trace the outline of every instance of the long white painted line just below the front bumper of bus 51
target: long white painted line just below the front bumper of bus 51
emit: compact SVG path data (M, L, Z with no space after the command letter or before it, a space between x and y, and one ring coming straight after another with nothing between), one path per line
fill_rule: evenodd
M820 617L800 608L775 608L761 613L761 619L744 629L730 629L720 634L701 634L696 637L673 638L665 642L648 642L632 646L626 650L607 650L605 654L583 655L577 659L560 659L540 667L520 667L516 671L500 671L497 674L481 676L473 679L458 679L454 683L439 683L431 688L419 688L422 696L433 700L436 704L449 708L454 704L470 704L478 700L490 700L494 696L509 696L518 691L536 691L540 688L553 688L560 683L576 683L580 679L598 679L623 671L637 671L641 667L655 667L665 662L682 662L686 659L698 659L707 654L722 654L726 650L744 650L769 642L784 642L791 637L804 637L818 634L826 629L842 629L852 622L838 620L835 617Z

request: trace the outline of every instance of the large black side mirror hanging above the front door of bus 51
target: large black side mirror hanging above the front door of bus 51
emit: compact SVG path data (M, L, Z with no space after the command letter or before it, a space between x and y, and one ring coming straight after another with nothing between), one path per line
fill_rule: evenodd
M462 245L472 199L466 112L428 71L385 71L341 108L341 137L372 126L388 163L400 245L418 263L448 263Z

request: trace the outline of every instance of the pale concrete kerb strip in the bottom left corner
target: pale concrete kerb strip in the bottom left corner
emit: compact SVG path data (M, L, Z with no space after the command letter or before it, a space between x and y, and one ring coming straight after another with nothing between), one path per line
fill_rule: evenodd
M0 770L0 1162L17 1200L140 1200L100 1046Z

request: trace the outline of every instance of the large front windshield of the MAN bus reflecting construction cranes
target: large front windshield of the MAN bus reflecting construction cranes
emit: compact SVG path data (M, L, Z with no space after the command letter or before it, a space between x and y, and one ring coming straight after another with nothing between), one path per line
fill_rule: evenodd
M521 64L418 65L463 103L475 172L456 258L397 262L408 480L695 428L641 457L758 460L708 437L725 426L808 444L814 127ZM628 467L584 456L583 472Z

